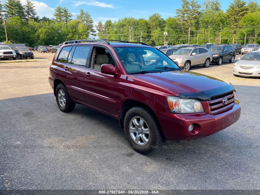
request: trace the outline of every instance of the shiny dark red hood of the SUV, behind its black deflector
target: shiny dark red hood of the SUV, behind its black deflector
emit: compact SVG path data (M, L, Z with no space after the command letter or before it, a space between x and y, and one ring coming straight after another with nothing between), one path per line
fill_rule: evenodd
M168 71L148 74L132 75L140 80L140 83L146 82L154 89L160 88L165 93L178 95L179 93L195 93L207 91L223 86L228 83L191 71Z

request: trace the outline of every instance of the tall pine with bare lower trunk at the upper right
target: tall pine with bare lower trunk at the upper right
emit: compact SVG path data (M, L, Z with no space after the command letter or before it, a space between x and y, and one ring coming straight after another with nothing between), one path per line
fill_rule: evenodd
M229 5L229 8L226 11L227 21L229 22L229 26L234 29L233 30L233 41L235 41L235 35L238 29L238 22L242 19L242 17L247 13L246 2L243 0L234 0Z

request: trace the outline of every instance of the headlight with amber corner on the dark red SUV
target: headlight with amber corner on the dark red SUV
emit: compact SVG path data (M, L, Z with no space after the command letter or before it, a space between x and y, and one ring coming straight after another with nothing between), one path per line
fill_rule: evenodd
M167 102L170 111L173 113L204 112L202 104L199 100L181 99L176 96L168 96Z

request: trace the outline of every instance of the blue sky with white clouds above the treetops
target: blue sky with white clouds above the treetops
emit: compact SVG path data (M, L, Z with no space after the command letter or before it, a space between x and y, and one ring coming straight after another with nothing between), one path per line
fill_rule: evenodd
M2 0L4 3L6 0ZM67 7L74 14L79 13L80 9L88 11L96 24L98 21L103 23L110 19L112 21L124 18L145 18L148 19L153 13L161 14L162 18L175 15L175 10L182 5L181 0L158 1L158 0L30 0L34 3L40 18L43 16L53 18L54 10L57 6ZM246 0L247 1L247 0ZM21 0L25 4L26 0ZM204 0L198 0L200 4ZM233 0L219 0L222 9L226 10ZM260 3L260 0L257 0Z

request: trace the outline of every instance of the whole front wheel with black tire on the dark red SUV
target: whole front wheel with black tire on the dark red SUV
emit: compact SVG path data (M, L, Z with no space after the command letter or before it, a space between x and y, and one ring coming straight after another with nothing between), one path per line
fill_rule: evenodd
M139 126L141 119L143 125ZM133 121L136 121L136 123L134 124ZM132 130L130 130L131 127ZM142 128L146 128L147 133L142 134ZM124 130L129 144L141 154L155 152L164 142L164 136L160 131L158 122L147 109L140 106L128 110L124 120ZM138 135L138 132L141 133Z

